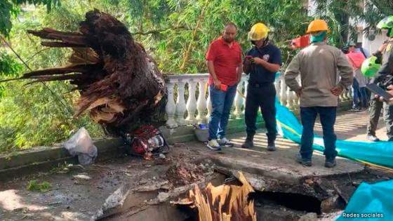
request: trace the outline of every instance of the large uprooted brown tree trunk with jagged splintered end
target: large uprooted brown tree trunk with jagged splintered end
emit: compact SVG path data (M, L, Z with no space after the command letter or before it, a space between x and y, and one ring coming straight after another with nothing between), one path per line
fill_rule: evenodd
M166 86L154 60L134 41L119 20L98 10L86 13L79 32L54 29L28 31L48 47L72 48L67 67L42 69L21 79L65 81L81 93L74 116L89 111L109 133L129 131L140 124L164 122Z

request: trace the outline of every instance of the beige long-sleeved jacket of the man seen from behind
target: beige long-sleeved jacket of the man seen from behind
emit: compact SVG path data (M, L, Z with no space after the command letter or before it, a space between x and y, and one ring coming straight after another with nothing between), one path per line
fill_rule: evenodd
M295 79L298 74L301 86ZM352 66L344 53L323 42L312 43L300 51L285 72L285 82L291 90L302 88L300 107L337 107L338 97L331 89L336 85L347 88L353 78Z

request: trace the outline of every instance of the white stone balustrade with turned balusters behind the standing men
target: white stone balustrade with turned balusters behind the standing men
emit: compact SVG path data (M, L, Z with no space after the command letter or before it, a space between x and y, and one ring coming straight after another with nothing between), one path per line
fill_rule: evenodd
M208 117L212 112L210 94L206 87L208 81L208 74L181 74L181 75L168 75L166 86L168 88L168 103L166 105L166 113L168 114L168 121L166 125L169 128L178 126L185 126L191 123L208 123ZM298 78L300 82L300 79ZM185 91L185 84L188 84L188 89ZM175 91L177 85L177 91ZM196 95L196 86L198 85L198 96ZM237 93L234 98L234 111L231 116L236 119L241 119L244 115L244 107L246 105L247 97L247 76L244 75L237 87ZM277 91L277 97L282 105L290 109L299 109L299 98L293 91L290 91L286 86L284 76L279 76L274 87ZM207 92L206 92L207 91ZM244 91L244 93L243 93ZM206 98L206 93L208 97ZM187 101L185 94L188 95ZM174 97L177 95L177 99ZM351 100L351 91L344 91L340 95L340 102L347 102ZM198 114L196 114L196 110ZM185 113L187 111L187 118Z

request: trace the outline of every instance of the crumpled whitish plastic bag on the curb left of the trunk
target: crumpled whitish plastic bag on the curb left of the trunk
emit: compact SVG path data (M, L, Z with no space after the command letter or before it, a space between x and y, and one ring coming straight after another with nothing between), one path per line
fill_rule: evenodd
M64 147L72 156L78 156L78 161L82 165L93 163L95 157L97 157L97 147L94 146L93 140L91 140L85 128L80 128L78 132L72 135L65 142Z

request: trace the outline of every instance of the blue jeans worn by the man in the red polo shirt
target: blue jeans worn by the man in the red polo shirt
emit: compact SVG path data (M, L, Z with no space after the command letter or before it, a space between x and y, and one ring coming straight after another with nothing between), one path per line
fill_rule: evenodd
M229 113L232 109L237 85L228 86L227 91L209 86L212 112L209 119L209 140L225 138Z

